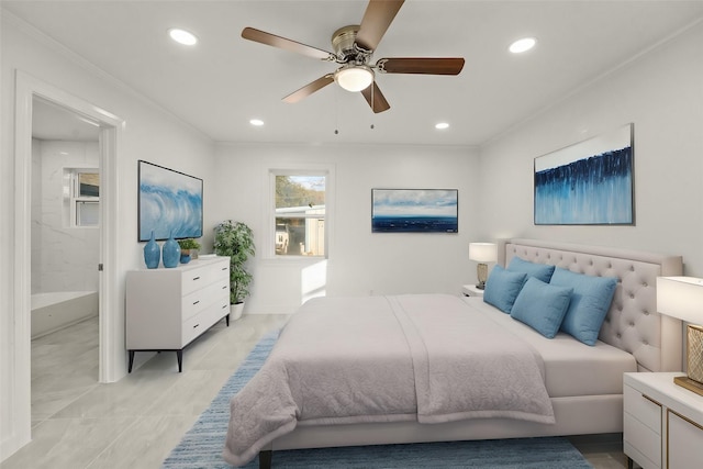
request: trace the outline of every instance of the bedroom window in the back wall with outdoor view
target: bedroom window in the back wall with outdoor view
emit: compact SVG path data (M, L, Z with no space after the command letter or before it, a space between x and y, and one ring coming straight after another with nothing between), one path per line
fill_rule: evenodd
M326 172L271 171L276 256L321 256L326 253Z

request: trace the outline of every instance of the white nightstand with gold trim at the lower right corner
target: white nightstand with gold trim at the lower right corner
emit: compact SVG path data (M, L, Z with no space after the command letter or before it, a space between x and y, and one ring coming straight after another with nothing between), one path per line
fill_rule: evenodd
M703 461L703 397L673 383L681 372L625 373L623 450L645 469Z

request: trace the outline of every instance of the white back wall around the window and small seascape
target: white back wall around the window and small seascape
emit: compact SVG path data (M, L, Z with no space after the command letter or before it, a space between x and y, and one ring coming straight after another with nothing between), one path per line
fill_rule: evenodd
M468 245L479 233L477 163L467 147L219 145L213 211L219 220L247 223L258 247L245 312L292 312L310 290L306 280L325 267L327 295L457 294L461 283L476 281ZM334 169L326 266L265 258L268 171L290 166ZM371 188L458 189L459 233L372 234Z

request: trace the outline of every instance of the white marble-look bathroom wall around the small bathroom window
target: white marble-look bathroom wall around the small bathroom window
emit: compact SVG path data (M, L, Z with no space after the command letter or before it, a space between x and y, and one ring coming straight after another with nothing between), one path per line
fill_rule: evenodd
M70 226L64 168L99 167L98 142L32 139L32 293L98 291L97 227Z

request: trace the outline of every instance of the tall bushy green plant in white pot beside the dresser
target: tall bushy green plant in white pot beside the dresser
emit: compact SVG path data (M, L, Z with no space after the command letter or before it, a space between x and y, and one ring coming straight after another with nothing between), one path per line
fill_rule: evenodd
M214 250L217 256L230 257L230 311L236 321L242 316L253 278L246 270L247 259L256 252L252 228L232 220L220 223L215 226Z

